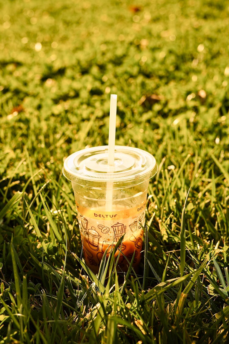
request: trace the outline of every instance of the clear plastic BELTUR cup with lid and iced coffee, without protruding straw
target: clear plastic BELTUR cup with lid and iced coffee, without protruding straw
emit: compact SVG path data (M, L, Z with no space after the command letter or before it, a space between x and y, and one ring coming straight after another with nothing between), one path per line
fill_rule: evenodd
M92 147L69 155L63 174L71 181L77 206L85 263L98 272L101 259L117 241L118 267L126 271L141 258L149 180L157 173L148 152L115 146L114 166L107 164L108 146ZM121 252L120 252L121 251Z

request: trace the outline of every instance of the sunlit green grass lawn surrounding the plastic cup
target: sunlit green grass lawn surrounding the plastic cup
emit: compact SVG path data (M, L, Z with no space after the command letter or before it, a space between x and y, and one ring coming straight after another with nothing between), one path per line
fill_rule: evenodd
M0 343L227 343L228 1L0 4ZM62 164L145 149L139 267L85 266Z

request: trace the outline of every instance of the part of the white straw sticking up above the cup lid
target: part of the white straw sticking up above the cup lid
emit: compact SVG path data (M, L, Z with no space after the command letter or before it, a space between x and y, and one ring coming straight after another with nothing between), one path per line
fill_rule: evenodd
M117 111L117 95L111 94L109 138L108 138L108 161L107 161L109 166L114 166L116 111Z

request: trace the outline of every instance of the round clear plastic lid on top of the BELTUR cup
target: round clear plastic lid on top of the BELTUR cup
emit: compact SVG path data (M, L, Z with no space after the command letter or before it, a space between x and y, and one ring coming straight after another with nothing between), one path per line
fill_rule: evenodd
M129 182L150 179L157 173L150 153L134 147L115 146L114 166L107 164L108 146L91 147L69 155L63 174L72 182Z

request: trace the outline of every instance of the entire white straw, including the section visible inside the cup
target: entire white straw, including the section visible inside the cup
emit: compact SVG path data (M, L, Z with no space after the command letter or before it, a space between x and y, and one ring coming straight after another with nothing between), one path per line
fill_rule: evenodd
M109 121L109 138L108 138L108 159L109 172L114 167L114 151L115 151L115 130L116 130L116 111L117 111L117 95L111 94L110 103L110 121ZM113 199L113 182L107 182L106 185L106 211L112 211Z

